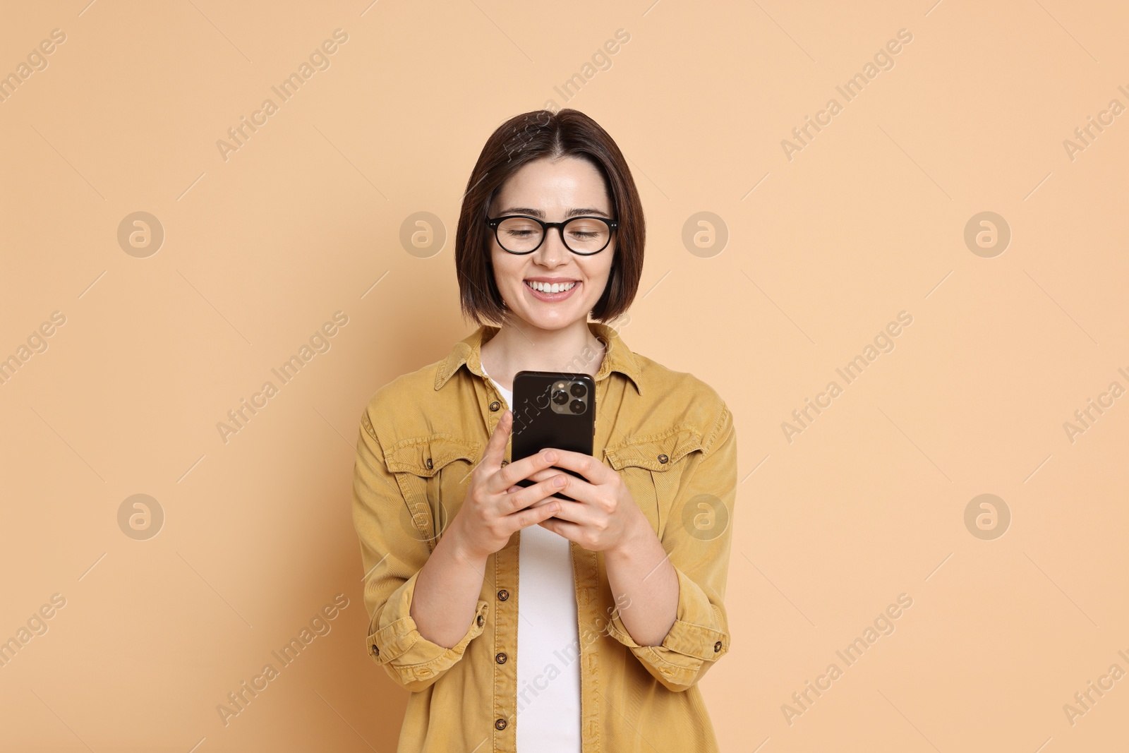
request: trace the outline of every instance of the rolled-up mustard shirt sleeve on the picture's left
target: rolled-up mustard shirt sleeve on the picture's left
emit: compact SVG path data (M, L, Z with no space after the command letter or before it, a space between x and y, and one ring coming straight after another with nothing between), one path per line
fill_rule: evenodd
M408 496L419 494L415 501L426 502L426 489L415 485L418 480L413 478L400 481L387 470L366 410L357 441L352 504L366 572L364 594L369 615L366 650L400 685L419 692L463 658L470 641L482 633L490 605L479 601L466 633L450 648L420 634L411 616L412 596L430 549L426 541L405 531L404 525L411 520Z

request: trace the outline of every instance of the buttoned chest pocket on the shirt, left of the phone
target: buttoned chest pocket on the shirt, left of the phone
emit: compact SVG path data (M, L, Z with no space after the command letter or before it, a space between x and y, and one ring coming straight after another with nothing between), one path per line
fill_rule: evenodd
M428 550L462 507L481 448L480 443L438 432L402 439L385 452L385 465L408 502L400 525L406 535L427 542Z

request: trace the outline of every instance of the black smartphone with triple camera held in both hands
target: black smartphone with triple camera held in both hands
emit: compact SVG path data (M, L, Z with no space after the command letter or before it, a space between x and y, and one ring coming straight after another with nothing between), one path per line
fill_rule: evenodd
M592 455L592 439L596 434L596 383L589 375L518 371L514 376L510 410L514 412L510 462L535 455L546 447ZM576 471L557 470L584 479ZM532 487L534 483L522 479L517 485ZM567 494L553 497L576 501Z

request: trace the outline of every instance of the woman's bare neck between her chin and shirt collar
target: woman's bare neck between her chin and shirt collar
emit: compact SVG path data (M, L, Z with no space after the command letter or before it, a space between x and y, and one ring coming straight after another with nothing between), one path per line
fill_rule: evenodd
M559 330L506 321L482 344L480 356L490 378L513 389L514 375L518 371L572 371L595 376L605 351L606 347L585 321L578 319Z

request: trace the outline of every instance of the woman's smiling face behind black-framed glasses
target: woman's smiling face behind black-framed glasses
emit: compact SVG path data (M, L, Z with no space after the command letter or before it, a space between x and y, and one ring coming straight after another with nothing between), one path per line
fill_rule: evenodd
M504 214L530 214L545 222L562 222L578 214L615 219L599 170L577 157L544 157L518 168L490 204L490 217ZM523 255L505 251L490 230L495 283L509 313L541 330L587 322L588 312L607 284L614 254L614 231L606 248L581 256L561 243L557 228L546 233L536 251ZM545 294L531 287L534 281L572 287Z

